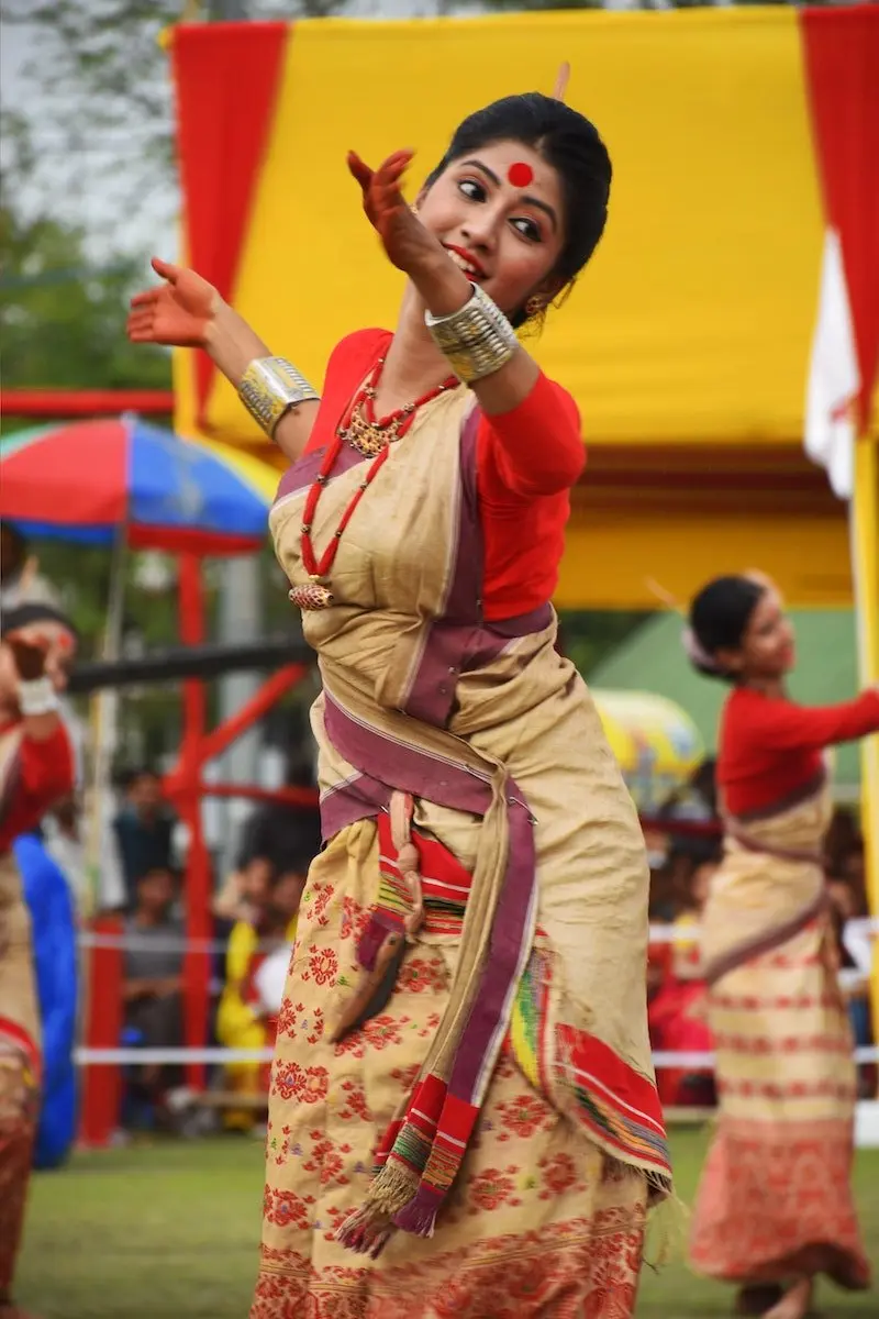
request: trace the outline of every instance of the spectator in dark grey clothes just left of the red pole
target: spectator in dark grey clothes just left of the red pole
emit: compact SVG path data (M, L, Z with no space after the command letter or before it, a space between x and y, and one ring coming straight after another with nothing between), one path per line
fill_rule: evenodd
M175 1049L183 1038L182 988L184 931L171 915L177 877L157 865L136 884L134 910L125 921L123 1000L125 1038L145 1049ZM136 1068L129 1111L152 1124L162 1119L165 1099L177 1070L162 1063Z

